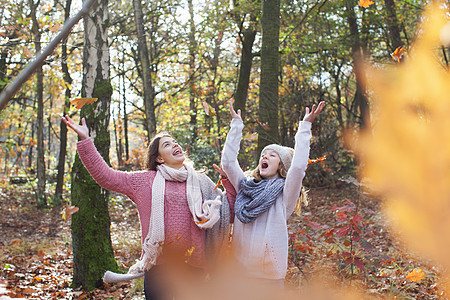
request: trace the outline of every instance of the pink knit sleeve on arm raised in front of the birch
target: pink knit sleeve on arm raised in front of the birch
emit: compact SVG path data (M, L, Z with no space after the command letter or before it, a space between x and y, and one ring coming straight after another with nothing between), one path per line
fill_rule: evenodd
M108 166L95 148L91 138L79 141L77 151L86 170L102 188L127 195L133 199L132 173L117 171Z

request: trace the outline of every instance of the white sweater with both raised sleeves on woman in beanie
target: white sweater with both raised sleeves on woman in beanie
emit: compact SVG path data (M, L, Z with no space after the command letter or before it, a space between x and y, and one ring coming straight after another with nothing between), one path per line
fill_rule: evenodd
M238 191L245 178L237 155L244 124L240 119L231 121L223 153L222 168ZM283 279L288 260L287 219L295 209L302 180L308 166L311 123L300 122L295 135L295 152L285 180L283 192L275 203L251 223L234 218L232 247L237 261L250 276Z

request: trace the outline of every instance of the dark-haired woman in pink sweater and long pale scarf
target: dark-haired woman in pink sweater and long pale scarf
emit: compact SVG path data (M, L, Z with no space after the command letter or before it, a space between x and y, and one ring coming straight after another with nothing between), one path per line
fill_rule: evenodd
M236 193L225 178L227 193L186 163L185 154L169 134L155 136L147 150L146 171L123 172L110 168L81 125L69 116L65 124L79 136L77 151L84 166L103 188L128 196L139 213L142 255L128 274L107 271L105 282L144 276L146 299L172 298L174 287L165 276L169 264L187 261L187 269L201 278L207 265L227 243ZM175 260L174 260L175 259Z

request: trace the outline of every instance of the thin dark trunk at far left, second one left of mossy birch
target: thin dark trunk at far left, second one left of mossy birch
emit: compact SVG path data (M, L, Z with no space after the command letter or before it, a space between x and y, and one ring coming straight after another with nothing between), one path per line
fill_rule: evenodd
M36 9L39 1L35 4L33 0L29 0L31 9L31 19L33 22L32 32L34 35L34 48L36 55L41 52L41 33L39 23L37 21ZM37 101L37 195L36 202L38 207L47 205L45 197L45 149L44 149L44 74L42 66L36 71L36 101Z

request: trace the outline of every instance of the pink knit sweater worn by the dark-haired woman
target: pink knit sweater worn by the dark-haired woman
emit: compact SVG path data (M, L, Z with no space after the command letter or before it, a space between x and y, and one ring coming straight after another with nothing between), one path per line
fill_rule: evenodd
M110 168L98 153L92 139L77 143L77 150L84 166L103 188L128 196L137 207L141 224L141 239L148 233L151 214L152 185L156 171L123 172ZM199 176L206 176L199 174ZM211 181L209 179L209 181ZM211 184L214 184L211 181ZM234 219L234 202L236 192L228 180L223 180L227 198ZM163 255L157 264L164 260L164 252L176 251L186 253L194 247L189 264L195 267L206 266L205 230L193 221L186 197L186 182L166 181L164 195L164 234Z

